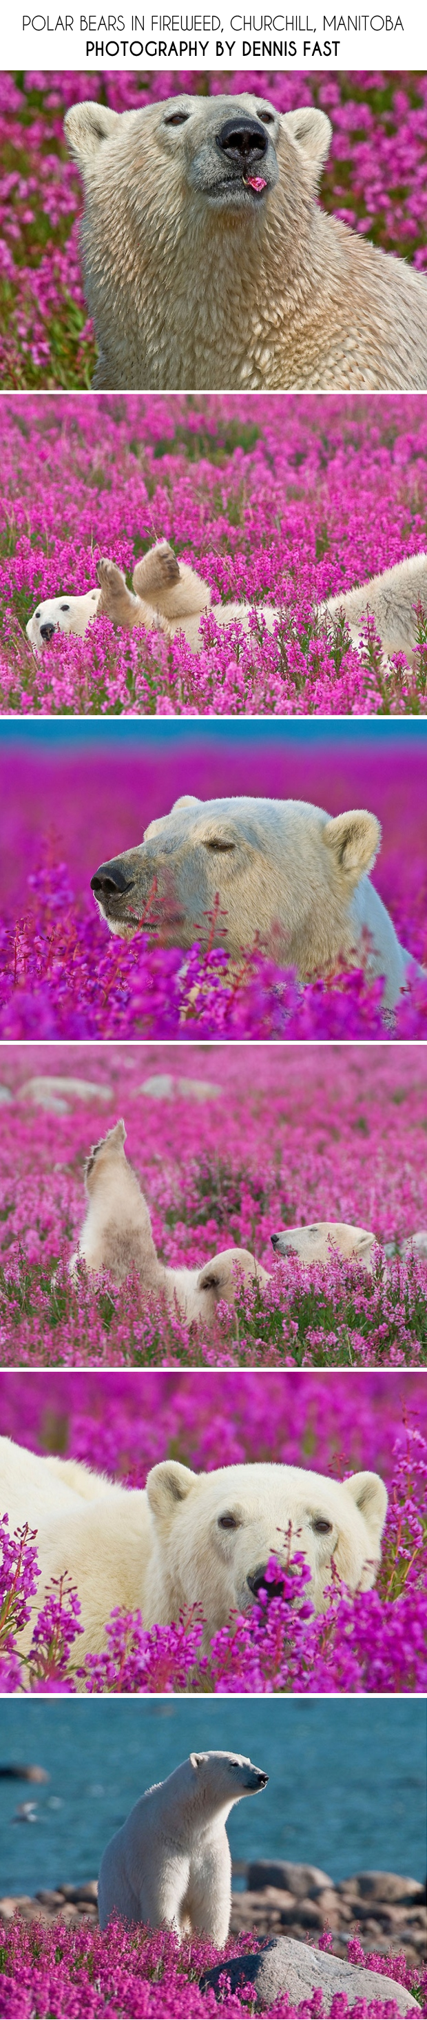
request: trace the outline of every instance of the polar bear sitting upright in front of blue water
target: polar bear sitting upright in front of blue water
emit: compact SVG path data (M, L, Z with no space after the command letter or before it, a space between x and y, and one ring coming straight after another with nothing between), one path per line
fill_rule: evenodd
M167 1782L147 1788L107 1844L99 1868L99 1921L111 1915L205 1935L224 1949L232 1909L226 1820L268 1774L244 1753L189 1753Z

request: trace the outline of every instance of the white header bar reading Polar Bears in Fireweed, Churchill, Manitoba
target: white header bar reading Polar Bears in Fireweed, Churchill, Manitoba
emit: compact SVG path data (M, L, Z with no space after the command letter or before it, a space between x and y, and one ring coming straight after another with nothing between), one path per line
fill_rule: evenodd
M326 12L314 4L294 14L270 0L266 12L246 0L216 12L183 8L123 12L10 8L2 28L2 69L24 71L419 71L427 63L427 8L407 0L391 12Z

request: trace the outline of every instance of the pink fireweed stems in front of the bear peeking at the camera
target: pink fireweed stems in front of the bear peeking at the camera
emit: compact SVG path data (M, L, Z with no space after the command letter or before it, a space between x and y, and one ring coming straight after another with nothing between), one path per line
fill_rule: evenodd
M203 1614L197 1606L171 1626L145 1628L141 1612L113 1610L107 1650L79 1664L79 1596L52 1580L32 1628L28 1656L18 1658L16 1632L34 1614L34 1547L0 1529L4 1568L4 1628L0 1628L2 1691L89 1693L405 1693L427 1687L427 1440L409 1424L395 1442L383 1561L373 1592L350 1594L332 1566L326 1612L314 1616L310 1570L288 1535L286 1566L274 1557L266 1584L246 1616L232 1616L201 1654ZM268 1586L280 1592L268 1596ZM14 1622L14 1626L10 1624Z

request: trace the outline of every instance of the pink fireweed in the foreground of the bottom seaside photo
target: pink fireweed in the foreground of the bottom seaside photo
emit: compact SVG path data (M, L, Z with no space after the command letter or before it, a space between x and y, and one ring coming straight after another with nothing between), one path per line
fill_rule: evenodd
M330 1937L320 1937L318 1949L328 1949ZM177 1939L167 1929L129 1929L123 1921L113 1921L109 1929L68 1929L60 1919L46 1923L24 1923L20 1917L4 1929L0 1949L0 2012L4 2020L50 2020L52 2014L73 2014L73 2020L203 2020L218 2016L238 2020L238 2014L252 2014L254 2000L246 1992L230 1992L228 1957L244 1957L258 1949L256 1935L232 1935L222 1951L199 1937ZM199 1992L199 1978L211 1965L224 1961L224 1994L218 2008L211 1990ZM361 1943L348 1943L348 1961L365 1963L371 1972L383 1972L391 1980L387 2002L357 1998L348 2006L346 1998L334 1996L324 2008L322 1994L314 1992L298 2008L288 1998L280 1998L268 2008L270 2020L393 2020L397 2004L393 1982L407 1986L427 2012L427 1974L407 1965L405 1955L381 1957L373 1951L365 1957Z

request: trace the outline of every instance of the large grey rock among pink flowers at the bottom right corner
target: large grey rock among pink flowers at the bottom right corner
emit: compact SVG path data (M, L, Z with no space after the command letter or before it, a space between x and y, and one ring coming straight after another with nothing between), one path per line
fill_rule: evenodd
M354 2000L393 1998L399 2014L419 2012L413 1994L405 1992L395 1978L385 1978L383 1972L369 1972L363 1963L346 1963L344 1957L330 1957L324 1949L310 1949L306 1943L296 1943L290 1935L272 1935L270 1943L254 1955L228 1957L228 1961L216 1963L211 1972L203 1972L199 1990L205 1992L211 1986L220 1996L220 1978L224 1972L228 1972L232 1992L238 1992L242 1984L254 1986L258 2012L274 2006L274 2000L282 1992L288 1992L292 2004L300 2006L318 1988L324 1994L326 2010L334 1992L346 1992L348 2004Z

